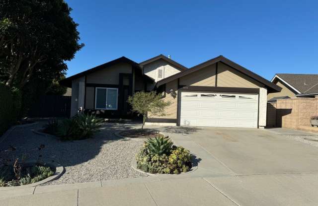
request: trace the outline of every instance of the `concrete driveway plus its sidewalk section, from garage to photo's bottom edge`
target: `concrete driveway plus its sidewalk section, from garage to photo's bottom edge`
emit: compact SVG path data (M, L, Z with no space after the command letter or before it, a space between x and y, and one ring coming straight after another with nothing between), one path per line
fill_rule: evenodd
M236 205L318 205L318 147L288 138L315 136L311 133L196 128L169 134L201 158L192 176L200 176Z

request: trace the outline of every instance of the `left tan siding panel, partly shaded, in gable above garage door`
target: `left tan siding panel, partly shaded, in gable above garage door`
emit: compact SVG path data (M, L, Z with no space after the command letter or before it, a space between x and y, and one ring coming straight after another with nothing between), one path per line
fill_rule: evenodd
M215 86L215 64L180 78L180 85Z

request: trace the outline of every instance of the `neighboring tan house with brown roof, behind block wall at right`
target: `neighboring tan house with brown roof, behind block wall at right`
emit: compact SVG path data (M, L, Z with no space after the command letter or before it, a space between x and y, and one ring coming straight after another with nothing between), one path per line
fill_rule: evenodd
M282 90L267 95L267 100L274 102L277 99L296 97L315 97L318 95L318 74L277 73L271 80Z

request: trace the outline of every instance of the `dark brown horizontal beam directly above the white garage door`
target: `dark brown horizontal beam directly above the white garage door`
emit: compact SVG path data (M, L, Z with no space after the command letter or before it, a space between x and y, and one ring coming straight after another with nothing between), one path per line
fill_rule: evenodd
M183 86L179 90L180 91L213 91L213 92L259 94L259 88L242 88L242 87Z

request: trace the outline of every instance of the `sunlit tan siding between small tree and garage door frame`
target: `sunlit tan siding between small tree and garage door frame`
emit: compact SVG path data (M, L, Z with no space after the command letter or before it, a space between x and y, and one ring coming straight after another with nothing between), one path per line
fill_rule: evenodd
M162 119L177 119L177 87L178 87L178 81L177 79L168 82L165 86L165 97L163 98L164 101L170 101L171 104L165 109L166 116L153 116L151 118L162 118ZM171 96L170 90L173 89L173 91L176 92L175 98Z

